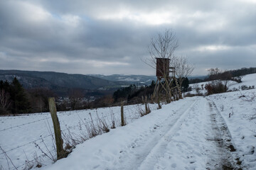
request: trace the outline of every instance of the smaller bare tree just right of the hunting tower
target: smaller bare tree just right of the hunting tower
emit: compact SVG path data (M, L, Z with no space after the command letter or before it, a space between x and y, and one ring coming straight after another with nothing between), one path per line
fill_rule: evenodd
M190 76L193 72L193 65L188 63L187 57L174 57L173 67L175 67L176 76L179 79L179 84L181 86L183 80Z

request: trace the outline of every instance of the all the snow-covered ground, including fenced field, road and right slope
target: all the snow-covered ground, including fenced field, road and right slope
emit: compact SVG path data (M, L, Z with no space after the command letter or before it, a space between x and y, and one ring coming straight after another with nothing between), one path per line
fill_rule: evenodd
M256 74L242 81L230 87L255 86ZM256 89L195 96L159 110L151 108L149 115L138 118L137 106L125 106L126 126L86 140L54 164L46 157L38 159L41 169L256 169ZM97 113L110 123L114 115L119 123L119 110L101 108ZM58 113L63 132L79 134L82 123L90 121L88 113L97 120L95 110ZM24 168L26 157L42 154L28 142L53 149L50 113L0 117L0 122L0 146L18 169ZM0 169L1 165L15 169L6 160L0 154Z

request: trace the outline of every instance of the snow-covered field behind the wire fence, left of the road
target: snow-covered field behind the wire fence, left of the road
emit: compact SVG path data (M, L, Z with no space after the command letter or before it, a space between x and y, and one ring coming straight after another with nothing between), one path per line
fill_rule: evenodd
M149 107L151 110L156 110L156 104L149 104ZM124 117L127 123L132 123L134 119L139 118L140 108L144 109L144 106L124 106ZM79 142L78 140L82 137L88 137L85 125L94 123L97 126L98 118L105 120L109 127L112 125L112 120L115 121L115 126L119 126L121 124L120 107L58 112L60 128L66 136L66 138L63 137L64 143L70 138ZM50 113L3 116L0 117L0 123L0 169L24 169L31 165L30 161L35 163L35 158L38 158L36 160L41 161L42 164L53 162L50 159L55 159L56 154ZM36 145L50 158L46 157Z

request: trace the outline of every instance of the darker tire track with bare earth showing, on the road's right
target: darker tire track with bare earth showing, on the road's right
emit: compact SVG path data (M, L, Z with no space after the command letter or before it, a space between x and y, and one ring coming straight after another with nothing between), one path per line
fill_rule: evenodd
M211 150L210 158L206 164L207 169L241 169L240 160L236 149L233 145L233 140L228 130L228 125L218 111L213 101L208 99L209 113L212 134L208 135L206 140L215 144L215 149Z

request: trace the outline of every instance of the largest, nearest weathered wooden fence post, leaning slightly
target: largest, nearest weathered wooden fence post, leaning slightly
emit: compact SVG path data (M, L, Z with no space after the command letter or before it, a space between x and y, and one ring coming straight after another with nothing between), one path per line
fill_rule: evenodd
M57 109L54 98L48 98L50 115L53 120L53 128L55 134L55 142L57 149L57 159L67 157L67 152L63 149L63 139L61 138L60 123L58 121Z

